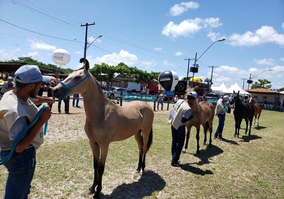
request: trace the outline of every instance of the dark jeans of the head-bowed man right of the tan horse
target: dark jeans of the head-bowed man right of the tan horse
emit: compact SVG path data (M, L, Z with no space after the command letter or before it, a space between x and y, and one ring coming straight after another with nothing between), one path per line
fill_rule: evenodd
M173 126L171 126L171 136L171 163L178 163L185 140L185 125L178 127L177 130Z

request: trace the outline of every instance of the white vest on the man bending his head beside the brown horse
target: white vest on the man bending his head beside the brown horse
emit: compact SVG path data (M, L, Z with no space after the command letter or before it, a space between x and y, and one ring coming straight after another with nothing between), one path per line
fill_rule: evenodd
M182 115L190 109L188 103L185 100L177 100L173 108L170 111L168 122L175 128L182 124L181 119Z

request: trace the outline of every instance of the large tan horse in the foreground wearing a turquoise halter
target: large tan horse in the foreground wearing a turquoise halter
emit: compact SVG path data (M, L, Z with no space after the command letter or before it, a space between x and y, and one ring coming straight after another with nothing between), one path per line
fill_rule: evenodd
M102 179L110 142L121 141L134 135L139 148L137 171L144 172L145 157L152 143L154 112L144 101L132 101L119 106L103 93L98 81L89 72L89 62L71 73L53 88L55 98L83 94L86 112L85 132L89 138L94 158L94 183L89 194L100 198ZM97 190L95 192L95 188Z

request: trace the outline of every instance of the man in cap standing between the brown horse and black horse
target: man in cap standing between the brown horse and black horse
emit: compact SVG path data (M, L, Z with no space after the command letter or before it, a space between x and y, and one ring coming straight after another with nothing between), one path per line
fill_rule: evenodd
M219 119L219 124L214 134L214 139L223 140L222 132L225 124L226 112L228 112L230 109L230 107L228 107L227 101L230 100L231 98L229 96L224 96L223 98L220 98L216 103L215 115Z

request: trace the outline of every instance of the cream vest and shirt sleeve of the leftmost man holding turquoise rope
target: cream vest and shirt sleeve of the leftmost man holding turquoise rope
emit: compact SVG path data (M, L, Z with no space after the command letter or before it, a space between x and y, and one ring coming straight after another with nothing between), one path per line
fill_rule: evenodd
M3 119L0 119L0 149L10 150L12 143L9 140L9 129L19 117L26 116L31 122L37 114L38 108L29 99L28 105L21 104L18 101L17 96L15 96L12 91L8 91L0 100L0 109L8 111L4 115ZM40 128L39 132L30 144L35 148L39 148L42 143L43 127Z

